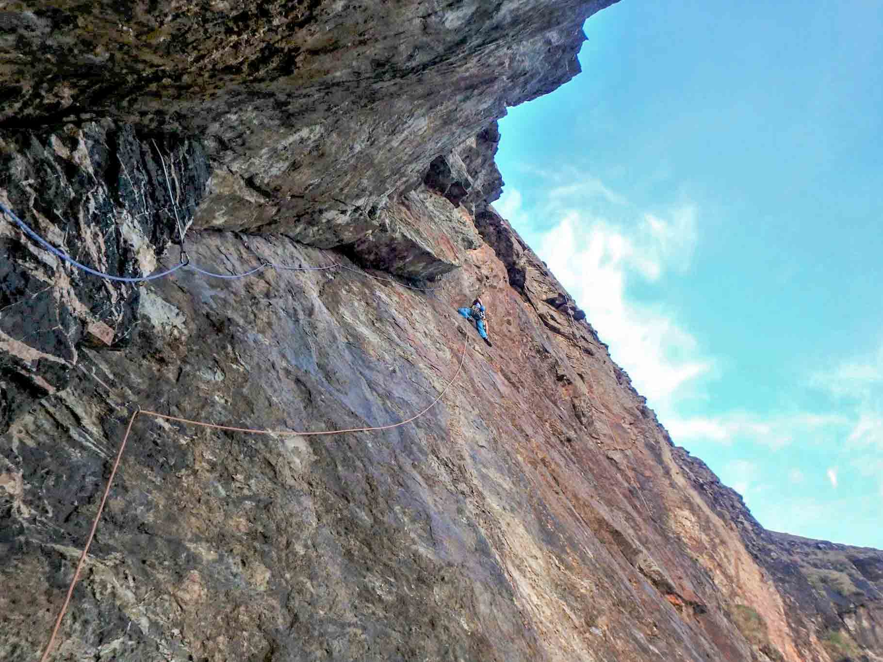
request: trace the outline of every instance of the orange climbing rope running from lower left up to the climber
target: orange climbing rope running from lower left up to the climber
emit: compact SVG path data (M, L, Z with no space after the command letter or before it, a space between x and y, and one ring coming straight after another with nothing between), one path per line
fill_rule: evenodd
M431 410L436 402L439 402L445 393L448 392L448 389L454 384L457 380L457 377L460 374L460 371L463 370L464 361L466 360L466 350L469 347L469 336L467 335L465 341L463 343L463 352L460 355L460 364L457 365L457 372L454 372L454 376L450 378L449 382L445 384L445 387L442 388L442 391L435 397L433 402L430 402L425 409L420 410L418 413L411 416L411 418L405 418L403 421L399 421L398 423L393 423L390 425L374 425L371 427L351 427L343 430L324 430L321 432L300 432L295 430L260 430L256 428L250 427L236 427L233 425L217 425L215 423L208 423L206 421L197 421L191 418L181 418L177 416L170 416L169 414L161 414L158 411L149 411L149 410L141 410L139 407L137 410L132 412L132 418L129 418L129 425L125 428L125 434L123 435L123 440L120 442L119 450L117 451L117 458L114 460L113 468L110 470L110 475L108 477L107 485L104 487L104 493L102 494L102 500L98 504L98 512L95 513L95 518L92 522L92 529L89 531L89 536L86 539L86 546L83 547L83 552L79 555L79 561L77 562L77 568L73 572L73 578L71 580L71 585L68 587L67 595L64 597L64 603L61 606L61 611L58 612L58 618L55 622L55 627L52 628L52 634L49 636L49 643L46 644L46 649L43 651L43 656L40 658L40 662L46 662L49 659L49 653L52 651L52 644L55 643L56 637L58 636L58 630L61 628L61 623L64 620L64 613L67 612L67 607L71 604L71 596L73 595L73 588L76 586L79 581L80 571L83 569L83 566L86 563L86 556L89 552L89 547L92 545L92 540L95 537L95 530L98 528L98 522L101 520L102 512L104 510L104 504L107 502L108 494L110 493L110 485L113 485L113 479L117 475L117 469L119 468L120 460L123 457L123 451L125 450L125 442L129 440L129 434L132 433L132 425L135 423L135 418L139 416L151 416L153 418L164 418L169 421L176 421L177 423L185 423L187 425L200 425L201 427L208 427L215 430L227 430L235 433L248 433L248 434L271 434L278 436L298 436L298 437L307 437L307 436L321 436L328 434L342 434L342 433L366 433L373 432L375 430L390 430L394 427L401 427L402 425L407 425L411 423L411 421L417 420L427 411Z

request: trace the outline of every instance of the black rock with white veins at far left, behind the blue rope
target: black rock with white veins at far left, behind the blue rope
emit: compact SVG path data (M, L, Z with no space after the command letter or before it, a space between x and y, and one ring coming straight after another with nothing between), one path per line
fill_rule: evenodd
M109 120L0 132L0 202L50 243L116 275L162 266L158 256L180 242L178 224L190 225L208 170L199 141L147 140ZM67 387L79 346L131 340L140 290L64 268L23 241L10 218L0 224L0 245L9 256L0 262L2 431L35 400Z

